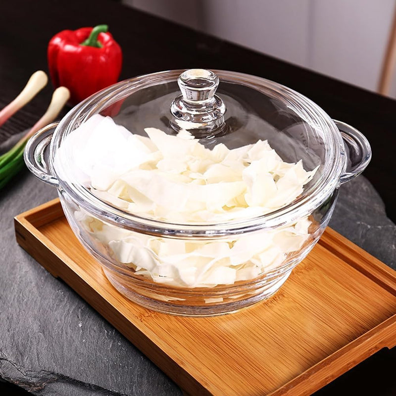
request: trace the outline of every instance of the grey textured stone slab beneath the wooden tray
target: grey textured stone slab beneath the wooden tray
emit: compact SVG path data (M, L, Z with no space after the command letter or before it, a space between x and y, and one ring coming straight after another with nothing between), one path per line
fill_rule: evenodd
M14 237L13 217L56 197L23 171L0 192L0 378L34 395L180 395L180 389ZM396 226L371 184L342 186L331 226L395 268Z

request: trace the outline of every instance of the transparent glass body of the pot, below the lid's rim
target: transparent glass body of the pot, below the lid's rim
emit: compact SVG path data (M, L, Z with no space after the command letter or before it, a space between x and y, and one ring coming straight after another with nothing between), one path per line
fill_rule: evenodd
M112 235L122 234L122 237L118 237L119 239L129 238L129 241L136 241L135 246L144 249L145 255L155 257L156 254L152 249L148 249L147 245L141 245L142 234L137 235L138 233L134 231L117 229L117 226L89 213L70 199L67 194L60 192L62 207L71 228L82 245L101 263L107 278L120 293L147 308L160 312L199 316L234 312L254 302L271 297L283 285L293 268L308 254L322 235L329 222L336 197L337 192L308 216L311 224L307 236L304 235L300 238L298 235L290 236L290 238L295 237L297 250L290 251L285 256L276 257L277 251L274 252L273 248L271 251L275 242L272 242L269 248L263 248L264 256L273 261L264 270L257 270L257 276L254 276L253 279L236 280L232 284L226 285L189 287L188 284L158 283L148 275L137 274L136 268L120 262L114 254L111 243L103 240L102 235L98 236L96 232L98 229L111 228ZM144 237L148 241L159 242L161 245L173 245L175 242L185 243L188 244L190 251L196 251L203 245L214 243L223 243L235 247L235 244L241 238L262 240L263 247L265 247L268 245L265 241L269 238L276 240L281 233L290 233L287 229L293 227L294 224L288 224L275 230L258 230L227 237L207 237L203 241L201 238ZM247 251L242 252L246 261L254 258L255 260L260 259L260 254L254 254L254 257L252 256L253 253L253 251L251 254ZM227 264L229 265L229 263ZM235 268L231 265L229 267L231 269ZM214 266L214 270L216 268ZM251 274L249 275L251 276Z

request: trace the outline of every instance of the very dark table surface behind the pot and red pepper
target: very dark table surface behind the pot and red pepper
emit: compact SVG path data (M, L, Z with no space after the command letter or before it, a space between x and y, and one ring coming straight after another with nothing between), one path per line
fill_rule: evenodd
M180 27L127 8L117 1L2 1L0 108L20 92L34 71L42 69L48 72L47 44L55 33L99 23L109 25L123 49L121 79L160 70L195 67L240 71L293 88L319 104L332 118L359 129L373 150L372 161L364 174L384 200L388 216L396 221L394 99ZM32 126L47 108L51 94L49 84L7 121L0 130L0 142ZM361 389L361 394L365 394L370 386L368 373L377 385L378 382L384 385L375 388L376 395L395 394L395 383L387 379L388 374L391 376L391 368L387 367L395 364L395 353L380 352L370 359L318 395L340 393L346 385L353 385L356 393Z

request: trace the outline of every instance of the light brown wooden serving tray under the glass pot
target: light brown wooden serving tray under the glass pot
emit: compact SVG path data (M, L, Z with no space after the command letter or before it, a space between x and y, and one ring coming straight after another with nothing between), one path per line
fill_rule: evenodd
M17 216L15 232L191 395L308 395L396 345L396 272L329 228L274 297L207 318L153 312L120 295L58 199Z

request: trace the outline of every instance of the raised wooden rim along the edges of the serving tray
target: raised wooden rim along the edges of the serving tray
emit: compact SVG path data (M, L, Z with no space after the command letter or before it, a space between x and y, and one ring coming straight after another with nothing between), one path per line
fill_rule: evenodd
M36 254L35 252L32 254L32 252L28 250L29 247L25 245L24 235L24 232L28 232L34 240L49 250L49 252L54 256L54 259L65 265L64 270L66 270L66 272L71 271L71 273L68 274L69 276L77 274L81 279L83 274L78 273L78 270L73 270L74 267L79 267L78 263L71 260L66 253L64 253L60 248L52 243L39 230L41 226L48 224L49 222L54 221L62 216L64 216L64 214L59 198L55 198L49 202L25 211L14 217L16 239L18 244L29 254L31 254L40 263L40 265L46 268L53 276L58 277L59 274L56 273L53 268L48 268L48 266L46 266L39 260L39 258L36 257L37 252ZM37 233L40 234L40 238L35 235ZM337 244L334 244L335 240L337 240ZM377 283L388 293L396 296L396 271L394 271L391 267L382 263L380 260L367 253L357 245L353 244L329 227L327 227L325 230L325 233L319 240L318 244L325 247L332 254L342 259L344 262L358 270L370 280ZM61 257L63 257L63 259ZM163 349L164 345L163 343L161 344L160 337L156 336L156 334L151 329L148 329L148 327L145 326L142 321L137 320L135 322L131 322L131 324L136 327L136 334L129 335L128 329L123 329L122 326L119 325L120 322L129 322L129 320L122 312L117 310L113 303L101 296L99 292L83 278L86 286L88 286L89 289L94 291L95 294L100 297L99 300L102 300L91 301L95 300L95 298L93 299L90 297L89 293L80 293L80 291L76 290L70 285L70 279L68 279L69 276L66 276L65 279L64 275L65 274L63 274L61 278L66 284L68 284L69 287L71 287L77 294L84 298L86 302L93 306L94 309L96 309L105 320L107 320L112 326L120 331L120 333L123 334L132 344L138 347L151 361L154 362L154 364L156 364L170 378L172 378L173 381L177 382L182 389L188 390L188 392L194 392L199 395L212 395L212 393L206 389L198 379L188 372L188 368L183 367L177 361L175 361L175 356L169 356L169 354ZM121 295L120 297L125 298ZM111 320L108 318L109 315L106 312L105 305L109 305L111 310L115 310L118 313L118 316L120 317L117 321L115 320L116 317L110 318ZM131 338L134 338L134 340L132 341ZM354 339L344 347L341 347L337 351L331 353L312 367L301 372L294 379L284 384L269 395L302 395L306 394L308 391L314 392L340 375L344 374L347 370L383 347L392 348L395 346L396 313L377 326L371 328L358 338ZM154 353L155 350L156 353ZM177 360L179 362L183 362L185 359L183 359L182 356L179 356ZM333 368L331 376L328 375L329 367ZM180 370L183 372L182 376L179 373ZM312 387L312 383L315 383L316 385ZM214 389L212 388L212 390Z

